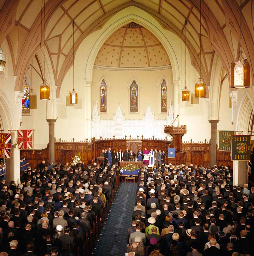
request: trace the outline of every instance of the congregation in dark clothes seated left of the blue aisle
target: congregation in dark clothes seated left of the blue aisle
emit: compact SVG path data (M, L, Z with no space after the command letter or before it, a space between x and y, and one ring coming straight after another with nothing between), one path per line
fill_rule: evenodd
M107 166L28 167L20 184L0 183L1 256L86 256L101 232L118 186Z

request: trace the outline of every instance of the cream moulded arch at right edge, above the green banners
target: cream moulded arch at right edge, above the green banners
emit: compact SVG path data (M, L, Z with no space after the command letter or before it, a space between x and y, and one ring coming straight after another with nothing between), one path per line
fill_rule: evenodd
M250 93L248 91L245 91L245 93L242 96L241 103L239 105L238 113L237 113L237 119L236 119L236 125L235 128L237 131L243 131L247 132L249 128L249 122L251 115L253 115L253 101L251 100Z

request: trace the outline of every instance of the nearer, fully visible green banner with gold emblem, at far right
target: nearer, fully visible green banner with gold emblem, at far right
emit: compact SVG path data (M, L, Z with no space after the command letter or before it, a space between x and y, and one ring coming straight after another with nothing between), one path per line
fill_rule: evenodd
M250 160L250 135L231 136L232 161Z

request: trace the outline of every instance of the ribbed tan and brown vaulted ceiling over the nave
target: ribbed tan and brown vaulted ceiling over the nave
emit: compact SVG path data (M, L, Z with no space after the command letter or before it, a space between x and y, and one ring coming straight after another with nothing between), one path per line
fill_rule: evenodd
M241 0L201 0L200 33L200 0L48 0L45 6L46 49L53 67L55 83L60 88L69 69L69 54L72 55L73 52L73 20L75 52L87 35L100 29L112 15L129 6L146 11L165 29L183 40L187 20L187 47L192 65L198 72L201 68L207 84L210 82L214 53L220 56L229 75L230 64L239 50L242 11L241 42L250 61L253 77L254 0L242 0L241 5L240 3ZM21 88L26 69L44 42L43 6L44 0L0 0L0 43L7 38L14 75L18 76L17 88Z

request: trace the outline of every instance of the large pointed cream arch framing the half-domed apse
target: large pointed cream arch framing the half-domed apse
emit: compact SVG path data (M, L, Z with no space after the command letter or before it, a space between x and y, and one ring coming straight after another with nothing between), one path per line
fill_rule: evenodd
M172 67L172 75L173 80L179 80L180 79L180 71L179 71L179 64L175 55L175 52L169 43L167 37L163 34L163 32L160 31L158 27L156 27L154 24L152 24L151 21L148 19L135 15L130 14L122 17L121 19L115 21L111 25L109 25L105 31L101 33L101 35L98 37L97 41L95 42L93 48L91 49L89 53L89 57L87 59L86 63L86 70L85 70L85 80L86 81L92 81L92 75L93 75L93 66L96 59L96 56L101 49L103 43L107 40L107 38L112 34L112 32L116 31L118 28L122 27L126 23L135 22L143 27L147 28L149 31L153 33L157 37L157 39L161 42L163 47L165 48L169 60L171 62Z

